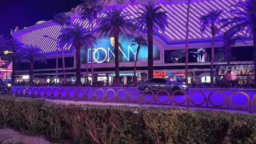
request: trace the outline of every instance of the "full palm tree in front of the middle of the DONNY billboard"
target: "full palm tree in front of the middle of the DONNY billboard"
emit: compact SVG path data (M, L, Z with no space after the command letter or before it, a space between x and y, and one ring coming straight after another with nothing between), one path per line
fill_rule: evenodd
M127 16L130 16L129 13L122 13L121 10L113 8L112 10L108 9L104 12L105 17L101 17L99 20L98 32L101 35L104 33L105 37L109 34L114 35L115 43L114 47L119 47L119 35L123 35L126 30L131 33L133 30L132 21L126 19ZM127 34L127 33L126 33ZM115 55L115 85L120 86L120 76L119 76L119 49L114 49Z

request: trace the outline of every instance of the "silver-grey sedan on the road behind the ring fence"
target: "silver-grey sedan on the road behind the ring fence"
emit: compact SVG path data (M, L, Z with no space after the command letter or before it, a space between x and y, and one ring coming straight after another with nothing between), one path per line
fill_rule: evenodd
M168 92L174 92L176 90L182 90L184 92L188 91L189 87L183 83L173 82L164 78L153 78L147 81L138 83L139 90L151 89L152 91L159 91L160 89L165 89Z

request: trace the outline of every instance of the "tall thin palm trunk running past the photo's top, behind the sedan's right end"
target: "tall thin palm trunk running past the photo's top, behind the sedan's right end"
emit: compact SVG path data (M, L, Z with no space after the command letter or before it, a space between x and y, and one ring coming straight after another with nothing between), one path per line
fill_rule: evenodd
M190 0L188 0L188 13L187 13L187 25L186 25L186 62L185 62L185 83L188 85L188 35L189 35L189 10Z

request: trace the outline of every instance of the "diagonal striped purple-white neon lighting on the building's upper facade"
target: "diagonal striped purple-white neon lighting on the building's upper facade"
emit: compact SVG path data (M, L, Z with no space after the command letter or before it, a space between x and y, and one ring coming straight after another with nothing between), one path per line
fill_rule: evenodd
M198 39L211 39L211 31L210 28L207 28L205 32L201 33L200 31L200 17L202 15L208 14L211 10L222 9L223 13L220 15L222 19L227 17L231 17L228 13L231 9L232 4L236 4L239 2L238 0L230 0L230 1L193 1L190 5L190 17L189 17L189 39L190 40L198 40ZM159 3L161 5L161 11L167 12L167 21L168 27L166 27L165 31L159 29L158 34L161 35L166 41L184 41L185 40L185 25L187 21L187 1L181 2L165 2ZM135 14L138 11L138 8L143 7L143 4L133 3L128 4L126 7L123 8L124 13L130 13L129 19L135 19L137 15ZM106 16L105 14L100 14L98 17ZM78 24L83 26L84 28L90 28L89 21L83 20L79 18L75 18L73 20L73 24ZM96 23L94 22L94 28L96 28ZM221 26L221 23L218 27ZM21 41L21 43L25 43L28 45L37 45L40 47L44 52L55 52L60 51L57 47L57 43L54 40L44 38L43 35L49 35L49 37L57 39L57 37L61 34L60 33L60 26L57 26L55 23L51 23L48 26L44 25L39 27L38 29L32 30L25 29L24 33L13 35L14 38L17 38ZM220 34L224 33L228 28L221 29ZM246 31L238 33L240 35L244 35ZM64 50L70 51L72 46L70 44L66 44L63 47Z

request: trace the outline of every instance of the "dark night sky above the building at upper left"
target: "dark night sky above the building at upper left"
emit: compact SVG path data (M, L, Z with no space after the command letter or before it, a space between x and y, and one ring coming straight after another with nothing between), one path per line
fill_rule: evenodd
M0 0L0 34L10 36L10 29L36 25L52 20L54 14L68 12L82 3L80 0Z

